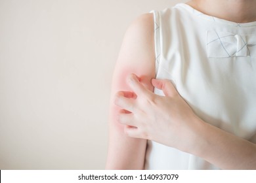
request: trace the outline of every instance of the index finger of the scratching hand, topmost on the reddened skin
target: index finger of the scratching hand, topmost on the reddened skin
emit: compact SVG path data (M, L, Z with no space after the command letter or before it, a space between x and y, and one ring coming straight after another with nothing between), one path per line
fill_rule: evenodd
M137 95L148 95L150 92L149 90L143 86L138 77L135 74L131 74L127 78L129 86Z

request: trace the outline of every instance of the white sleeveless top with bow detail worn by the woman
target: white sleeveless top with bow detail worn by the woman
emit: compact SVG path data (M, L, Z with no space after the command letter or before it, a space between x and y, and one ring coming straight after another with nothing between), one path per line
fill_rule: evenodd
M205 122L256 142L256 22L229 22L186 4L153 13L156 78L172 80ZM218 167L148 141L145 169Z

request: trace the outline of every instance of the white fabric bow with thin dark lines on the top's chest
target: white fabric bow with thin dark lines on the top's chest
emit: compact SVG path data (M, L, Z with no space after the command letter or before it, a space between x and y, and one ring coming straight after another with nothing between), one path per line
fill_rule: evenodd
M235 35L221 31L207 32L207 56L209 58L256 58L256 35Z

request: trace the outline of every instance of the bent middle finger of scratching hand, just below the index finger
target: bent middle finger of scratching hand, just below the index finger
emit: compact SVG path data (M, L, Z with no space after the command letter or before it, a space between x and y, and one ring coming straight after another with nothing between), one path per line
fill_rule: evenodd
M125 97L124 92L116 93L114 103L120 108L128 110L129 112L134 112L133 110L135 108L135 100Z

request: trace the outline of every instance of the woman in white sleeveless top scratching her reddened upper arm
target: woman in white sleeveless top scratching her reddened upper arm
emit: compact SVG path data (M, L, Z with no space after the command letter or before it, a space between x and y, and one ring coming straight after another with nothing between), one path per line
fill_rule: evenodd
M107 169L256 169L255 8L194 0L131 24L113 79Z

